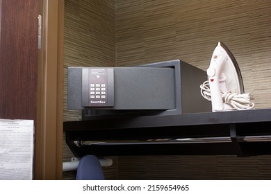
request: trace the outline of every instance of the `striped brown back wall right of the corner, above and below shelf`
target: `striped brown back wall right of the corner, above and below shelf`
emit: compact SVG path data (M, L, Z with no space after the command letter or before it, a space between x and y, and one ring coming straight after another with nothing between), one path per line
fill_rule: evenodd
M271 107L271 1L116 0L116 65L181 59L208 68L224 42L256 108ZM118 157L119 179L271 179L271 156Z

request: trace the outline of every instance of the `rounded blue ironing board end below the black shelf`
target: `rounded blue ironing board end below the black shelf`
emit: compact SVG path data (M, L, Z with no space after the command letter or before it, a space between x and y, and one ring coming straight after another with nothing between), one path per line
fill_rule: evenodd
M104 180L99 159L93 155L82 157L77 168L76 180Z

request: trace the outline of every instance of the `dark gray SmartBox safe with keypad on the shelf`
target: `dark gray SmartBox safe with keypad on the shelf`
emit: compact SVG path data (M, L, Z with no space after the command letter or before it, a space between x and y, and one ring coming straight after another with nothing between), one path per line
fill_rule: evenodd
M210 112L199 85L207 79L197 67L171 60L136 67L69 67L67 109L83 116L149 112Z

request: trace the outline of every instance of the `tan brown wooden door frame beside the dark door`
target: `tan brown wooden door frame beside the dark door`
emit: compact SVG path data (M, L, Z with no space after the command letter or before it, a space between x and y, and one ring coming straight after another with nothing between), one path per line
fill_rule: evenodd
M34 179L62 179L64 0L39 0L38 107Z

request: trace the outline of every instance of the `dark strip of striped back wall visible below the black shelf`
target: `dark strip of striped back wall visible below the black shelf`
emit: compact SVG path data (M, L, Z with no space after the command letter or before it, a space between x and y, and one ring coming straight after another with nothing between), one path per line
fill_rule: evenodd
M271 156L118 157L118 179L271 179Z

